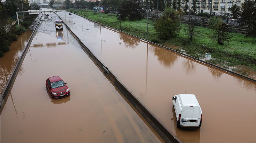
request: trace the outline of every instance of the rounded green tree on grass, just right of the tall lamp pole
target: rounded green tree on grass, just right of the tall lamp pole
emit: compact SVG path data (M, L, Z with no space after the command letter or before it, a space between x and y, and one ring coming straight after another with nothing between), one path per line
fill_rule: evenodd
M164 10L163 15L155 23L155 31L161 39L176 37L180 29L180 17L177 12L170 7Z

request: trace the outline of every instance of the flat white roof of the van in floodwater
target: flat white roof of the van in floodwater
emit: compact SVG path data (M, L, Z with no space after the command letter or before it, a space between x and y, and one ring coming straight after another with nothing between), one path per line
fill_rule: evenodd
M181 106L197 105L200 106L194 94L179 94Z

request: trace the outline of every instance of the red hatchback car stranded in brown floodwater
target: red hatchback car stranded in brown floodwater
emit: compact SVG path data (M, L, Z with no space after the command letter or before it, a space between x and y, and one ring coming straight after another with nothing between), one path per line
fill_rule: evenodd
M46 88L53 99L69 96L69 87L59 76L49 77L46 80Z

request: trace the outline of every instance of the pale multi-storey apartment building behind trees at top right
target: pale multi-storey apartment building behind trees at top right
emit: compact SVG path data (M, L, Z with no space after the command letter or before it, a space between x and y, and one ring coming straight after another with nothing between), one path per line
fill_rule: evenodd
M187 2L187 5L189 7L189 3L191 0ZM241 5L244 0L199 0L197 2L197 13L199 12L207 12L210 13L211 11L211 2L212 2L212 14L214 15L227 15L231 14L230 8L236 4L236 5ZM181 3L181 6L185 6L185 1L183 0ZM193 2L190 3L190 8L192 10L193 8ZM188 9L189 12L189 9Z

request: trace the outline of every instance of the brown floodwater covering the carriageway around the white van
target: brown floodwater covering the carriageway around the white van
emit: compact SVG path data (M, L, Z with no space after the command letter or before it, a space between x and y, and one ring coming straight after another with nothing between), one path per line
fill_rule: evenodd
M59 14L83 43L184 143L255 143L256 84L100 26ZM172 97L195 94L200 129L176 128Z

